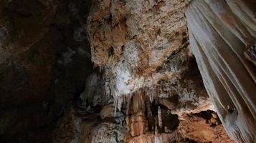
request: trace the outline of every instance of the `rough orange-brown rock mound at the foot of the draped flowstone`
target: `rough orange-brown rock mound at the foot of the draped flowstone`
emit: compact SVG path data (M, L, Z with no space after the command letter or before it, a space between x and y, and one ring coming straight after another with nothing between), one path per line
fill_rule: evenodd
M178 132L195 142L234 142L227 136L217 114L209 110L186 116L186 120L179 123Z

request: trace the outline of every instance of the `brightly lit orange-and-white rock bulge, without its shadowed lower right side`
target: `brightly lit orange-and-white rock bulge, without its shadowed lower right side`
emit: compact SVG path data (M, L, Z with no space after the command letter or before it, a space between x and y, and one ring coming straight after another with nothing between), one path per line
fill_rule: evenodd
M187 46L186 4L176 0L94 2L87 22L92 61L105 70L116 99L175 74L155 71L171 52Z

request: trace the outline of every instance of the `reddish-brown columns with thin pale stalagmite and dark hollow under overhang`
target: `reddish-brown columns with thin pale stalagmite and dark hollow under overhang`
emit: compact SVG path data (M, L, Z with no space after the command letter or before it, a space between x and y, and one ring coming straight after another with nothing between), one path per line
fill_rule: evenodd
M179 124L178 116L160 106L157 97L151 100L143 89L132 94L126 117L128 136L131 136L127 142L163 142L166 137L161 137L162 133L174 132Z

